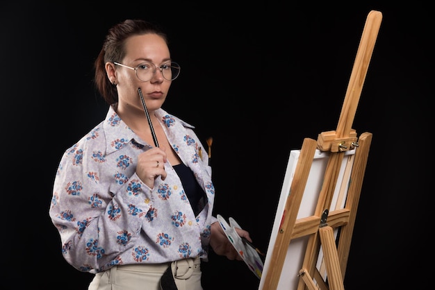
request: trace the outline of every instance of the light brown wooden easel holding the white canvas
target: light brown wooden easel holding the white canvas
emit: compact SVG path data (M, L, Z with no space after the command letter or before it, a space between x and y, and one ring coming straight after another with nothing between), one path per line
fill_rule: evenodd
M304 236L309 236L309 239L304 262L299 271L297 290L344 289L343 281L347 256L350 251L356 210L372 140L371 133L363 133L358 138L356 131L352 129L352 123L372 51L375 47L381 19L382 14L379 11L372 10L368 14L336 130L319 134L317 142L309 138L304 139L295 176L290 186L291 194L289 194L285 205L286 214L282 217L273 251L268 253L268 255L272 255L273 266L266 273L264 286L259 290L277 289L290 241ZM322 189L313 216L297 219L297 212L316 149L330 153ZM331 199L338 180L338 170L345 151L349 150L355 150L355 154L345 207L339 210L331 209ZM340 231L338 244L336 244L334 237L334 229ZM324 254L327 280L324 280L324 275L316 267L320 248Z

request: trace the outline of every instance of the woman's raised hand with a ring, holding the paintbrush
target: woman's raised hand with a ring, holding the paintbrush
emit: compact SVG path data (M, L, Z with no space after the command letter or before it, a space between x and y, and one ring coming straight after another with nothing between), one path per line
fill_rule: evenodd
M138 156L136 174L145 185L152 189L154 188L154 180L158 176L161 176L162 180L165 180L167 176L165 162L165 148L151 148Z

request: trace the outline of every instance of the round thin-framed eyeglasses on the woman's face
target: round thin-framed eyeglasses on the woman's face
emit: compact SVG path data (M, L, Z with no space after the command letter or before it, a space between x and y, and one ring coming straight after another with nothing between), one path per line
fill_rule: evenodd
M154 74L156 74L157 69L160 69L165 80L174 80L180 74L180 65L177 62L164 62L158 67L152 62L142 62L137 67L129 67L127 65L122 65L122 63L119 62L113 63L115 65L120 65L121 67L126 67L127 69L135 70L136 76L143 82L151 80Z

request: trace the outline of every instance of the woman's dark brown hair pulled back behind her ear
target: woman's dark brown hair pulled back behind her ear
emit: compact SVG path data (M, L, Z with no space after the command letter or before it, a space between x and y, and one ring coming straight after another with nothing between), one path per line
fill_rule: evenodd
M109 29L103 47L94 63L95 86L109 105L118 101L118 94L115 85L112 85L108 80L106 62L120 62L125 56L124 43L126 39L133 35L147 33L160 35L167 43L167 35L159 26L140 19L126 19Z

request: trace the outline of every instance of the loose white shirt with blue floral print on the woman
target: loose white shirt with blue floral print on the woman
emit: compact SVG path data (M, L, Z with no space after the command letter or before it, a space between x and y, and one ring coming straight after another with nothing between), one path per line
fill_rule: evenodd
M152 148L110 106L106 119L67 149L56 173L49 216L59 231L65 260L83 272L120 264L163 263L187 257L207 260L215 189L208 155L188 123L156 110L172 148L206 193L192 211L179 176L150 189L136 175L140 153ZM204 147L202 147L204 149Z

